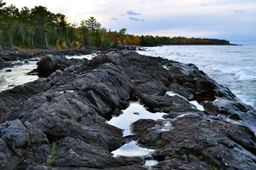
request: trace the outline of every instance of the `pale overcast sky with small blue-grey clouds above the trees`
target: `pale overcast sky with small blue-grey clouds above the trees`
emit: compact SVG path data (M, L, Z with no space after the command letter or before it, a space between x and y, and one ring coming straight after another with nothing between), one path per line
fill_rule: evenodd
M42 5L69 21L94 16L103 27L129 33L216 37L256 44L256 0L5 0L17 7Z

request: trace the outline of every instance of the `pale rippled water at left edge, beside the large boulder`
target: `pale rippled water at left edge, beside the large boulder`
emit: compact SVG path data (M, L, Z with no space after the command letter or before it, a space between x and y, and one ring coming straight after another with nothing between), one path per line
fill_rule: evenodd
M0 70L0 92L8 90L14 86L25 84L26 82L32 82L38 79L38 76L27 75L36 68L36 61L30 61L27 64L21 66L13 66L12 68L4 68ZM11 70L6 72L5 70Z

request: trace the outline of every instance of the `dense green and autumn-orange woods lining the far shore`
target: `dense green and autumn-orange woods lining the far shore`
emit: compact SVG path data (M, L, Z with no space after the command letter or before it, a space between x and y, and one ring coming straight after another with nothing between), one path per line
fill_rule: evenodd
M218 44L226 45L222 39L186 37L160 37L152 35L130 35L126 28L120 31L107 30L90 17L79 25L69 23L62 13L52 13L46 7L32 9L15 5L7 6L0 0L0 52L19 48L81 48L95 46L106 48L124 45L157 46L172 44Z

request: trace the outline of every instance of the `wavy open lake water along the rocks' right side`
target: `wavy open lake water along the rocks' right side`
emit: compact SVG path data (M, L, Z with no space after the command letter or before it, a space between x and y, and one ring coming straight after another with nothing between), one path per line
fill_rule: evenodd
M256 45L161 46L138 53L196 64L243 102L256 108Z

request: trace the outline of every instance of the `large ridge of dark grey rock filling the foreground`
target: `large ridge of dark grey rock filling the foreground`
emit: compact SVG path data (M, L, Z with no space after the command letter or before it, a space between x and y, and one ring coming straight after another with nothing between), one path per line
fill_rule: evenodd
M0 92L0 169L256 169L256 110L194 64L123 50L65 66ZM130 102L165 115L124 136L108 122ZM114 157L130 141L153 152Z

